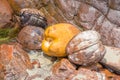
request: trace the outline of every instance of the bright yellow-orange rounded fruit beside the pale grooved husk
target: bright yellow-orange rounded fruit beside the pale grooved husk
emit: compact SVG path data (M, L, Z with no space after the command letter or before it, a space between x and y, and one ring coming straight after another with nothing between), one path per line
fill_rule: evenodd
M68 23L49 26L44 33L42 50L45 54L55 57L66 56L66 46L80 30Z

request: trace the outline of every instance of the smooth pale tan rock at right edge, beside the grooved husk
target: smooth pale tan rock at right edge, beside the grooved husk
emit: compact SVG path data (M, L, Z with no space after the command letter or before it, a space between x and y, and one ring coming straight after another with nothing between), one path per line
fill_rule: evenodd
M115 47L105 46L106 54L100 61L112 72L120 74L120 49Z

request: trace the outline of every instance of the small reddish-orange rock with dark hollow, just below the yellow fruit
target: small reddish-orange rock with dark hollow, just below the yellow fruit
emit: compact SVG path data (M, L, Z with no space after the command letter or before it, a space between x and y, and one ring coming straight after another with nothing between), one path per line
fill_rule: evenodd
M68 77L75 72L75 67L67 60L62 59L52 67L52 74L61 77Z

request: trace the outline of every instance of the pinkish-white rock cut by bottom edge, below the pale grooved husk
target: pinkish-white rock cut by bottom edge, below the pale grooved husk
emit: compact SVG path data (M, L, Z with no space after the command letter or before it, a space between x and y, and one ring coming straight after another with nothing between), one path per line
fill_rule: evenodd
M80 68L73 78L68 80L106 80L105 74L100 72L91 71L85 68Z

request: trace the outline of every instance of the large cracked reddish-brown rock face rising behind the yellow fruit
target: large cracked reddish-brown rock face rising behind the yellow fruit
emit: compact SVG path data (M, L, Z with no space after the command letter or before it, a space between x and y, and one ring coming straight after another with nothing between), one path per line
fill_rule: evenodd
M39 9L49 25L68 22L84 30L96 30L105 45L120 47L119 0L9 0L9 3L15 12L26 7Z

